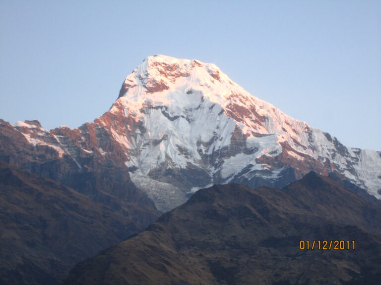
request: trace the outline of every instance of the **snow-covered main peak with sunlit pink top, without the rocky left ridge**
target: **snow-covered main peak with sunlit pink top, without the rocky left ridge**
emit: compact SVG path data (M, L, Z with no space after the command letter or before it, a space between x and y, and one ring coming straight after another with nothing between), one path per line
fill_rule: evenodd
M197 172L198 181L179 184L187 191L228 182L282 186L315 170L338 172L380 196L379 153L343 146L249 94L212 63L149 56L127 76L110 112L140 124L113 133L125 147L126 165L137 169L131 177L141 188L159 182L169 187L173 178L157 174L168 169L180 180L187 180L184 171ZM364 156L373 161L367 174L360 170Z

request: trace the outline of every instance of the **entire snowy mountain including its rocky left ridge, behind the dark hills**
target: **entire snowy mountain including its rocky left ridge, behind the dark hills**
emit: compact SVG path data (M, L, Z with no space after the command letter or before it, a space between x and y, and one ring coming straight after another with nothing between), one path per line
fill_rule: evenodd
M312 170L381 198L381 152L342 145L198 60L145 58L110 110L78 129L0 128L10 143L0 144L0 159L99 201L119 203L127 185L165 212L213 184L284 187Z

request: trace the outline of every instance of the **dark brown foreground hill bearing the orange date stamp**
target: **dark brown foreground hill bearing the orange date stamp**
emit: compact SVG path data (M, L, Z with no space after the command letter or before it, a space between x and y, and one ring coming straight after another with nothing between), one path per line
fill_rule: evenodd
M301 250L300 240L349 240L351 249ZM380 280L381 207L309 173L282 190L234 184L199 190L146 231L77 264L64 285Z

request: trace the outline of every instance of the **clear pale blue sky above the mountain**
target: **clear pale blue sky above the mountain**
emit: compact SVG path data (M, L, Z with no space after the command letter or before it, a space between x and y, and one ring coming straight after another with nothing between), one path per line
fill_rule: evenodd
M0 0L0 118L78 127L144 57L215 63L251 94L381 150L381 1Z

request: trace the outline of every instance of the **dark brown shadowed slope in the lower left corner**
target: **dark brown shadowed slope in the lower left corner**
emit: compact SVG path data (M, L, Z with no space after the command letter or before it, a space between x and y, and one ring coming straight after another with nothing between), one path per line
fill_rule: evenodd
M60 284L72 266L141 229L135 217L0 161L0 284Z

